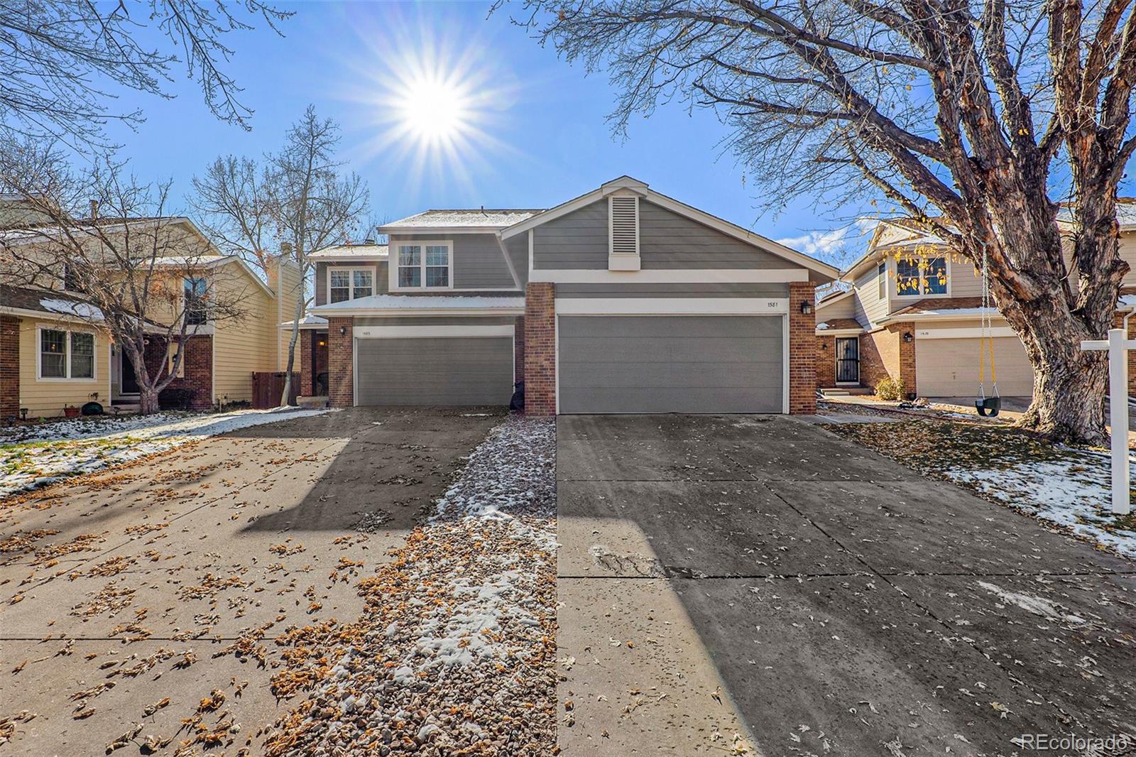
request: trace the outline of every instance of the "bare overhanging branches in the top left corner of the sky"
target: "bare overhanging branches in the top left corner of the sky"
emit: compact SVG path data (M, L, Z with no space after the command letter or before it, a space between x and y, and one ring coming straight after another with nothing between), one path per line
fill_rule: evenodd
M233 56L225 36L251 30L256 18L278 31L291 15L264 0L0 0L0 136L106 147L109 120L143 120L141 110L116 113L108 105L116 90L168 98L177 65L201 86L214 115L248 130L252 111L225 70ZM169 50L141 39L151 27Z

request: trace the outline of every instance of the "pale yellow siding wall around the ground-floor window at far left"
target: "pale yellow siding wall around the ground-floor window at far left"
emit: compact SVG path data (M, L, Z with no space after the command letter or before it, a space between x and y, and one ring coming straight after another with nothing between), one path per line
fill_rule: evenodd
M40 336L37 327L67 331L58 321L39 318L19 319L19 406L26 407L30 418L52 417L64 414L64 405L82 406L99 392L95 401L110 405L110 341L105 333L89 326L73 324L74 331L94 332L94 378L90 381L36 378Z

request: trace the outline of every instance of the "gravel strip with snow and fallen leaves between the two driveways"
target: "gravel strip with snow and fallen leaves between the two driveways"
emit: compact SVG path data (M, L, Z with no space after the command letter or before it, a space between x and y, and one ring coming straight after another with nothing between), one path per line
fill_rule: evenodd
M554 515L556 424L510 417L360 582L364 617L277 673L315 684L266 754L554 754Z

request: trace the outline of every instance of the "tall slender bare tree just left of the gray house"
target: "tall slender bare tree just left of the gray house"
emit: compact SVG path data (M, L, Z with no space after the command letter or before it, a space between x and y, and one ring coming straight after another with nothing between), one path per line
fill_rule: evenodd
M218 158L193 180L202 223L219 244L266 271L273 257L268 244L278 246L281 255L299 266L303 286L312 268L308 253L349 241L367 213L367 186L356 173L342 170L335 155L339 143L339 125L308 106L289 128L283 149L266 156L262 165ZM281 405L291 397L304 294L296 298Z

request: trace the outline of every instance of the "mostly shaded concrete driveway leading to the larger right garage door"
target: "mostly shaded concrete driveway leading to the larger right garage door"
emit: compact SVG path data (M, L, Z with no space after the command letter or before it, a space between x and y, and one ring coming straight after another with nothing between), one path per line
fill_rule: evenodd
M557 458L566 754L1136 734L1129 561L800 418L565 416Z

